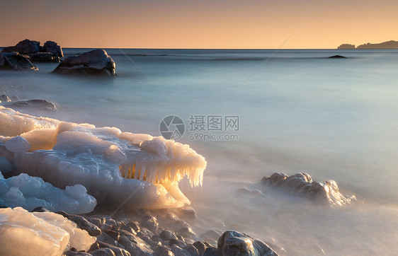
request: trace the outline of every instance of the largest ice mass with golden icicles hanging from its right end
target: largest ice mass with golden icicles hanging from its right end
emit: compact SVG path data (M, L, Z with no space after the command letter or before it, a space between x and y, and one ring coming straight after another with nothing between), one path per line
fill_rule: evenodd
M207 165L188 145L163 137L33 117L1 106L0 134L0 141L22 136L31 146L13 154L17 173L39 176L61 188L84 185L99 204L108 206L189 204L178 182L187 177L192 186L201 185Z

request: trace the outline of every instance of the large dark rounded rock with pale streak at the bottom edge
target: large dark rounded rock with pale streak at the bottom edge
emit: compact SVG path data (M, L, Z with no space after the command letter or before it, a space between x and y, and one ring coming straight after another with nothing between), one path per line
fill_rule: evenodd
M219 255L278 255L266 243L237 231L226 231L218 240Z

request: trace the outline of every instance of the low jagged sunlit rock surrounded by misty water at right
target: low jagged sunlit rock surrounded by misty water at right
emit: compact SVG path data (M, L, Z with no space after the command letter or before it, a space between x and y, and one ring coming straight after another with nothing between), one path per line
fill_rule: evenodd
M290 176L285 173L273 173L271 176L264 177L261 180L261 185L276 187L289 194L332 207L350 204L356 200L355 195L343 196L339 192L336 181L313 182L311 176L307 173L296 173Z

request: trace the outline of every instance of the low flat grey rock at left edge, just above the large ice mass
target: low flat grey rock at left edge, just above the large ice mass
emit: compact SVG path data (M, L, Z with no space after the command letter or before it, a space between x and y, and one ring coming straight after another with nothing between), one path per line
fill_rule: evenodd
M20 100L18 96L8 98L6 94L0 96L0 105L10 107L14 110L21 110L23 108L56 111L57 107L54 103L47 100L33 99L33 100Z

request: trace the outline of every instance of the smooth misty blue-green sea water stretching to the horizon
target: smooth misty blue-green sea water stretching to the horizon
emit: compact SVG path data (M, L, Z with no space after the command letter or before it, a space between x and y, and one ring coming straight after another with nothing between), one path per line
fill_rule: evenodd
M38 63L36 73L0 71L0 94L57 105L35 115L153 136L164 117L181 117L178 141L207 160L201 189L181 184L199 230L242 231L288 255L397 254L398 50L106 51L115 78ZM348 58L328 59L336 54ZM239 139L192 141L191 115L239 116ZM358 202L329 209L235 193L276 171L336 180Z

